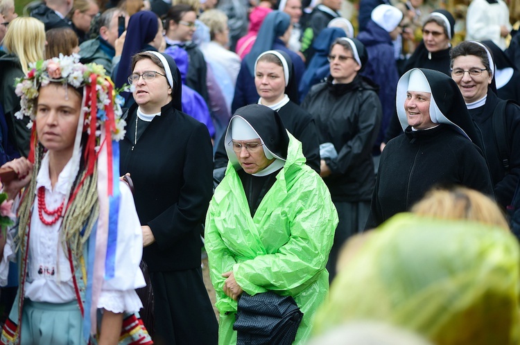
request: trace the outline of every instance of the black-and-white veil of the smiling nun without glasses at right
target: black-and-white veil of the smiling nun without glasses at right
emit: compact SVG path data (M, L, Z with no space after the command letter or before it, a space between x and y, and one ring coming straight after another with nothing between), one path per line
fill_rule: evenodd
M457 83L446 74L431 69L411 69L397 83L397 115L403 130L408 127L404 100L408 91L410 74L420 71L431 89L430 116L434 123L453 126L458 132L483 149L483 143L460 94ZM433 109L435 107L435 109ZM433 114L435 112L435 114Z

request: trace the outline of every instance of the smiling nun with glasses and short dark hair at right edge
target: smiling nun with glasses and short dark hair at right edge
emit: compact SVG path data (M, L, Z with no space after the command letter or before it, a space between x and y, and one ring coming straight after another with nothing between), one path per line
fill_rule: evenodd
M505 210L512 202L520 176L520 152L512 150L520 147L520 107L496 96L495 64L486 46L462 42L450 56L451 78L478 125L496 201Z

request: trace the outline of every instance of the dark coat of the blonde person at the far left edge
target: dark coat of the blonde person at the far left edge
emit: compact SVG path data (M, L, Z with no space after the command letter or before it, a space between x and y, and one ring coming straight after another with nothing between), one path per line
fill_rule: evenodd
M20 98L15 94L15 78L23 76L24 71L21 70L20 60L16 55L6 54L0 57L0 104L6 116L8 140L19 154L27 157L31 139L31 130L27 128L29 118L15 118L20 109Z

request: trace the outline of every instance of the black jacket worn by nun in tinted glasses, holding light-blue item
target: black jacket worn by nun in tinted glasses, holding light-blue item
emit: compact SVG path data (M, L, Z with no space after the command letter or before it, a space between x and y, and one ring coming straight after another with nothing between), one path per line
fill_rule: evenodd
M381 123L377 87L362 76L349 84L314 85L302 107L313 116L321 143L333 143L336 159L326 158L324 178L333 202L369 201L374 188L372 145Z

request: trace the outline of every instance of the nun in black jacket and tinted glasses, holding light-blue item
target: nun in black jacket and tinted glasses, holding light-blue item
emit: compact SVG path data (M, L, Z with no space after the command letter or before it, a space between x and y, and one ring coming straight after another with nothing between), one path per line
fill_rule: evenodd
M381 103L376 85L358 75L366 62L367 51L358 39L336 39L327 82L315 85L302 104L318 127L320 175L340 217L327 264L331 276L343 242L365 226L376 181L372 145L381 123Z

